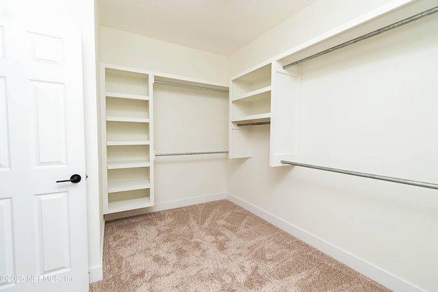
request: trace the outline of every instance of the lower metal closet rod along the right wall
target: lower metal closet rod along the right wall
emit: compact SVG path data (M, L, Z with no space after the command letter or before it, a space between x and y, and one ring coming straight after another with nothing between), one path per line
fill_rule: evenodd
M339 170L338 168L326 168L324 166L318 166L318 165L311 165L311 164L304 164L304 163L298 163L293 161L285 161L281 160L281 163L289 164L289 165L296 165L296 166L302 166L305 168L314 168L316 170L326 170L329 172L339 172L341 174L350 174L354 176L362 176L366 178L374 178L381 181L391 181L392 183L404 183L405 185L415 185L417 187L428 187L429 189L438 189L438 185L435 183L424 183L422 181L411 181L409 179L404 178L395 178L390 176L381 176L377 174L367 174L364 172L353 172L351 170Z

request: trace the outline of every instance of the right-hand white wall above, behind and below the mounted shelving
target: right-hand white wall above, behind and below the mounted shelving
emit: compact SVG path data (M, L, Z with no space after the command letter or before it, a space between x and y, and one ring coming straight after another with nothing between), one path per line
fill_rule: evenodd
M231 55L231 75L389 1L335 2ZM301 65L298 160L437 183L437 27L428 16ZM269 127L255 127L253 158L229 161L235 200L396 291L437 291L436 190L268 164Z

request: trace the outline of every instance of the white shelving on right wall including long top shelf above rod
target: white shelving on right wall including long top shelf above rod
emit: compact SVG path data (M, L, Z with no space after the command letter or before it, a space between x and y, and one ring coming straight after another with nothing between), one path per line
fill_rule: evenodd
M391 2L231 77L229 158L252 157L254 127L268 122L270 166L298 159L300 66L296 65L413 14L435 11L435 6L432 0Z

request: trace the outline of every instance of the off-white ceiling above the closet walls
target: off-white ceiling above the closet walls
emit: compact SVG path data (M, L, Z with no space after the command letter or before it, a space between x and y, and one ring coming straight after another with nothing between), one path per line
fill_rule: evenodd
M99 0L101 25L230 55L313 0Z

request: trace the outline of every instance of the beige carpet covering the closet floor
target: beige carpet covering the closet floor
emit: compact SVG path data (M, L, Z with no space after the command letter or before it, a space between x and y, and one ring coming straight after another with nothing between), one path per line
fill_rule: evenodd
M106 222L90 291L389 291L228 200Z

